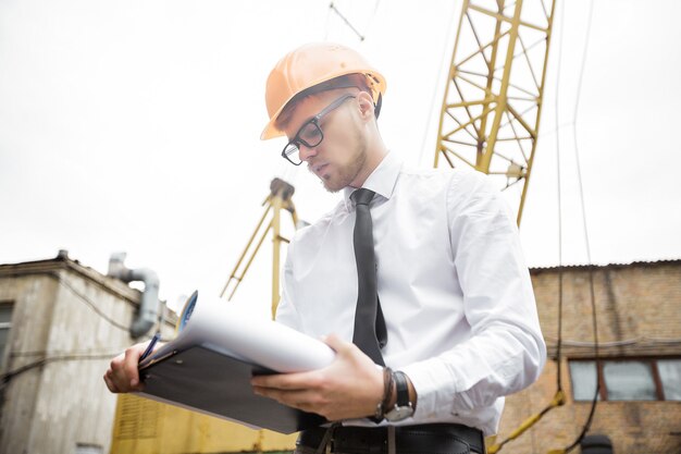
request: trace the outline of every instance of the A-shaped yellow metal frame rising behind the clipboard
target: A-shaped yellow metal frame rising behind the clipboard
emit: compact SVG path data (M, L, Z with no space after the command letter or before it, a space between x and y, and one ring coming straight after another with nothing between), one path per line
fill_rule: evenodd
M246 244L246 248L242 253L242 256L237 260L234 269L232 270L232 274L230 274L230 279L225 284L224 289L222 289L222 293L220 296L224 296L227 292L230 293L227 299L232 299L234 296L234 292L238 287L239 283L244 280L246 272L250 268L253 259L256 258L256 254L260 250L260 246L264 242L264 238L268 236L268 233L272 231L272 318L274 318L274 314L276 312L276 305L280 299L280 265L281 265L281 248L282 242L288 243L288 240L281 235L281 212L282 209L290 212L293 218L294 225L298 225L298 214L296 213L296 207L293 203L293 195L296 192L294 186L286 183L283 180L274 179L272 183L270 183L270 194L264 199L262 205L264 206L264 212L256 226L256 230L251 234L248 243ZM265 224L265 220L268 216L271 214L272 218ZM263 225L264 226L263 229ZM260 234L260 235L258 235ZM256 241L256 238L258 238Z

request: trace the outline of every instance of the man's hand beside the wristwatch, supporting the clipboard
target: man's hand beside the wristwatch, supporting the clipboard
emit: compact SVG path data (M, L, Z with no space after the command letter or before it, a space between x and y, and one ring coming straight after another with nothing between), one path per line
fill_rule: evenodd
M330 366L309 372L253 377L253 391L330 421L373 416L383 398L383 371L355 344L335 335L325 342L336 351Z

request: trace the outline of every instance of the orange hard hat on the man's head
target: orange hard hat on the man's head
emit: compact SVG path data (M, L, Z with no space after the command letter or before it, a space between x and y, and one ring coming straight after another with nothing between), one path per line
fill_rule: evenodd
M309 44L288 52L276 63L265 88L265 102L270 121L260 138L284 135L276 126L276 119L284 107L299 93L332 78L362 74L371 89L376 113L385 93L385 78L357 51L332 42Z

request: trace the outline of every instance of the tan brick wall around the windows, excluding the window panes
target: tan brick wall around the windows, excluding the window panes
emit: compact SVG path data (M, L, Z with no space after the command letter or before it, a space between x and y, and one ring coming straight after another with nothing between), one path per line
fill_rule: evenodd
M497 442L546 407L557 390L557 269L532 270L540 320L549 359L540 380L507 398ZM681 260L593 268L599 356L681 356ZM548 412L506 453L547 453L571 444L584 426L590 402L574 402L568 358L592 358L594 348L590 270L562 270L561 380L564 406ZM610 437L617 454L681 453L681 402L602 402L590 433ZM579 447L574 451L579 452Z

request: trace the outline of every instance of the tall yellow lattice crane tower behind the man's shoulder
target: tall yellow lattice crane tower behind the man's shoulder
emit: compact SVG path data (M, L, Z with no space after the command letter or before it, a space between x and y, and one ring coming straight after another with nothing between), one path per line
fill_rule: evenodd
M465 0L439 114L434 165L470 165L505 180L505 189L520 187L518 224L538 137L555 2Z

